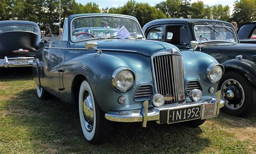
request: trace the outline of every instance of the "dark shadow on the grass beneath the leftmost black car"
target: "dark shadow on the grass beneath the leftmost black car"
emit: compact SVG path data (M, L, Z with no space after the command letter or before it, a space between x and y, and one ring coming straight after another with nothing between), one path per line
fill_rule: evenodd
M32 79L32 67L0 68L0 81Z

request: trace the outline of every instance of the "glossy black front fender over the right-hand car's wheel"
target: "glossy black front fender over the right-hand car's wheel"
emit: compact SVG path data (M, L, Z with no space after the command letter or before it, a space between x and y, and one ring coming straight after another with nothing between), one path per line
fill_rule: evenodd
M223 62L222 64L226 71L235 70L245 76L254 86L256 86L256 64L250 60L232 59Z

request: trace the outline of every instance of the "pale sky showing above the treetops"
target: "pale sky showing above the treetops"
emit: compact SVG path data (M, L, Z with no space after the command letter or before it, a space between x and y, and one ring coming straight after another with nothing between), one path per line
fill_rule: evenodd
M99 5L99 8L106 8L106 7L118 7L123 6L128 0L76 0L76 2L81 4L86 4L89 2L95 2L97 5ZM136 0L136 2L139 3L149 3L151 6L154 6L163 0ZM191 0L191 2L197 2L198 0ZM228 5L230 6L231 11L233 10L233 4L235 0L199 0L204 2L206 5L215 5L215 4L222 4L222 5Z

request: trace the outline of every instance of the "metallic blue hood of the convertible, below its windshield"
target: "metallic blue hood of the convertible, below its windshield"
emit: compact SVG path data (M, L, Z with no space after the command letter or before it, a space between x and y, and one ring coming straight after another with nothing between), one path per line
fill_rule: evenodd
M90 40L98 43L98 49L103 52L117 51L117 52L133 52L146 55L150 57L153 53L166 48L175 48L169 43L152 40L133 40L133 39L103 39L103 40ZM84 48L86 41L81 43L74 43L71 45L73 48Z

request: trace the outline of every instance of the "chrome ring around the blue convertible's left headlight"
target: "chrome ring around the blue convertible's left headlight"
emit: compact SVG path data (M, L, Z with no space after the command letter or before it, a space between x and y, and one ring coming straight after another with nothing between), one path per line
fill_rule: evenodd
M117 82L116 82L117 75L119 75L119 73L122 72L122 71L129 71L132 74L132 76L133 76L133 81L132 81L132 83L131 83L131 85L129 87L120 88L118 86ZM132 69L129 69L129 68L126 68L126 67L119 67L112 74L112 85L113 85L113 87L115 89L119 90L120 92L126 92L127 90L129 90L133 86L134 81L135 81L135 74L134 74L134 72L132 71Z

